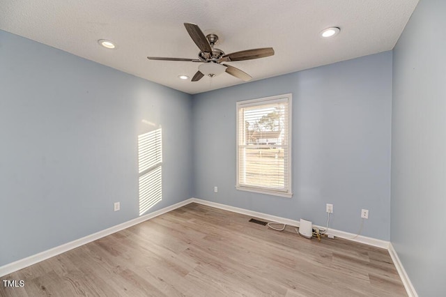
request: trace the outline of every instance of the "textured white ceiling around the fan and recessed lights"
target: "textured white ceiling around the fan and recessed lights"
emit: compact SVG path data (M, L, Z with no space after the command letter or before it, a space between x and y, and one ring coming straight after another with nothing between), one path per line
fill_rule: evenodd
M230 62L253 80L392 50L418 0L1 0L0 29L125 73L201 93L243 81L223 73L192 77L199 63L149 61L146 56L197 58L184 22L217 33L226 54L273 47L275 56ZM339 26L341 33L318 33ZM98 45L113 40L116 50Z

